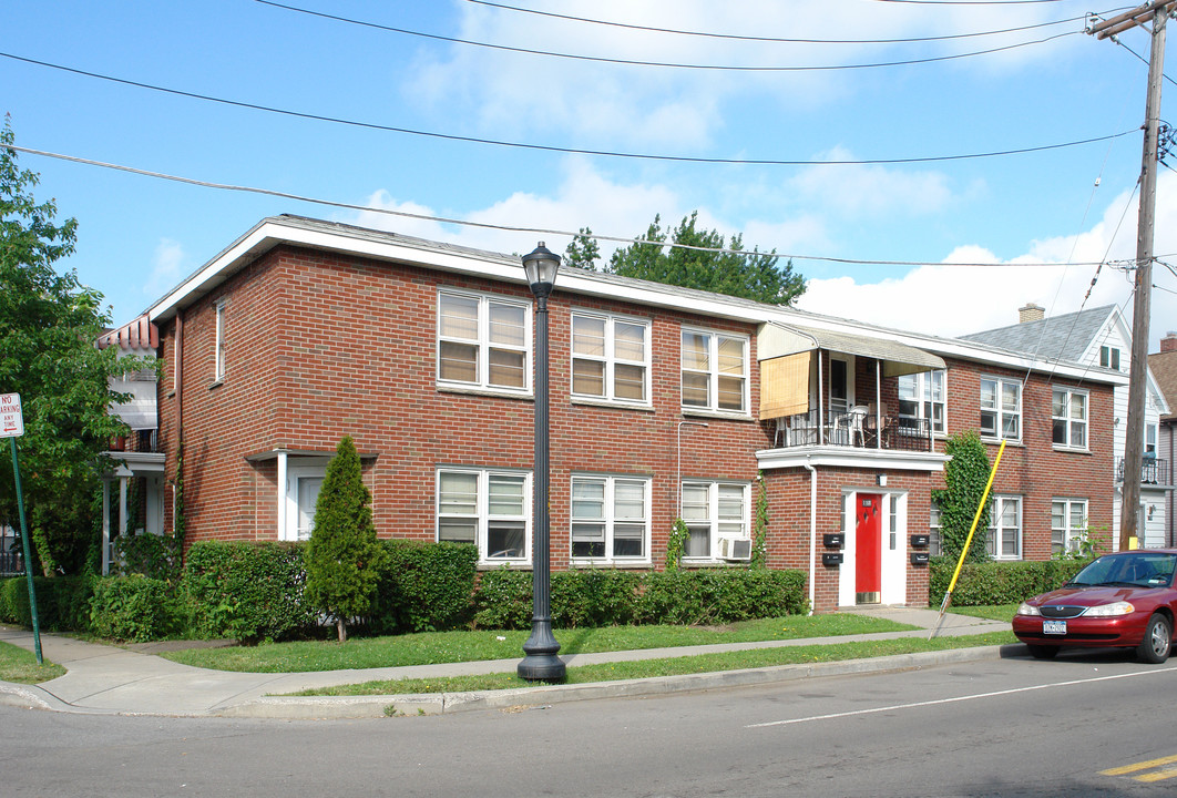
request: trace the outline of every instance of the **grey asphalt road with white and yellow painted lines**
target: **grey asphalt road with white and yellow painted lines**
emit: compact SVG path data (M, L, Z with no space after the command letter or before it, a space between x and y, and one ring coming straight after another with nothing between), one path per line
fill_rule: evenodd
M1171 796L1175 689L1097 653L379 720L0 706L0 794Z

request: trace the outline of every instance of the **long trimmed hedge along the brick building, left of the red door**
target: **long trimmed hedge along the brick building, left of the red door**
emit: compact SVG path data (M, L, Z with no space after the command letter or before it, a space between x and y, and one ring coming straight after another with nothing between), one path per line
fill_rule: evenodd
M374 634L531 625L528 571L478 578L477 551L386 540L388 566L372 614ZM200 543L178 579L126 573L34 580L40 625L126 640L184 636L279 640L320 620L302 600L297 544ZM563 629L613 624L712 624L805 612L799 571L710 568L552 574L552 617ZM32 625L24 578L0 580L0 623Z

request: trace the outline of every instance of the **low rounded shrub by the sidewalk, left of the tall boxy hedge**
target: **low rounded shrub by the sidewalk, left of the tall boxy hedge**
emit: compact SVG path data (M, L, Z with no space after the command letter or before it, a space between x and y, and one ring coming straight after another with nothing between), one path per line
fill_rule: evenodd
M89 600L91 631L99 637L144 643L177 631L175 600L161 579L140 574L97 580Z

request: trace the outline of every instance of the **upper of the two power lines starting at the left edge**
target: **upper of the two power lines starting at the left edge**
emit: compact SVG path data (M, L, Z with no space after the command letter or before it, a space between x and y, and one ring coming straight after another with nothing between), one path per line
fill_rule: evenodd
M85 78L94 78L97 80L106 80L113 84L120 84L124 86L133 86L135 88L146 88L153 92L162 92L165 94L173 94L175 97L186 97L194 100L205 100L207 102L218 102L220 105L227 105L235 108L248 108L251 111L265 111L267 113L281 114L284 117L293 117L295 119L310 119L320 122L333 122L337 125L348 125L351 127L361 127L372 131L385 131L388 133L403 133L405 135L419 135L431 139L443 139L446 141L463 141L466 144L481 144L496 147L513 147L517 149L536 149L540 152L553 152L570 155L600 155L605 158L627 158L638 160L653 160L653 161L673 161L683 164L718 164L718 165L734 165L734 166L880 166L887 164L931 164L940 161L960 161L960 160L975 160L980 158L998 158L1005 155L1024 155L1028 153L1046 152L1050 149L1064 149L1068 147L1078 147L1086 144L1095 144L1098 141L1111 141L1112 139L1118 139L1125 135L1132 135L1137 131L1124 131L1122 133L1112 133L1109 135L1099 135L1090 139L1080 139L1077 141L1065 141L1062 144L1048 144L1037 147L1019 147L1013 149L998 149L991 152L982 153L967 153L963 155L924 155L918 158L872 158L872 159L839 159L839 160L799 160L799 159L772 159L772 158L701 158L692 155L660 155L652 153L627 153L627 152L614 152L607 149L583 149L578 147L557 147L552 145L543 144L524 144L521 141L505 141L501 139L484 139L472 135L457 135L453 133L438 133L435 131L418 131L408 127L398 127L393 125L378 125L375 122L364 122L352 119L343 119L340 117L326 117L322 114L304 113L299 111L288 111L285 108L275 108L273 106L265 106L257 102L244 102L241 100L228 100L225 98L213 97L211 94L200 94L197 92L186 92L178 88L168 88L166 86L157 86L154 84L147 84L139 80L127 80L125 78L114 78L112 75L100 74L98 72L88 72L86 69L78 69L74 67L62 66L60 64L51 64L48 61L39 61L36 59L24 58L21 55L14 55L12 53L0 52L0 56L12 59L14 61L21 61L24 64L32 64L34 66L47 67L49 69L59 69L61 72L68 72L75 75L82 75Z

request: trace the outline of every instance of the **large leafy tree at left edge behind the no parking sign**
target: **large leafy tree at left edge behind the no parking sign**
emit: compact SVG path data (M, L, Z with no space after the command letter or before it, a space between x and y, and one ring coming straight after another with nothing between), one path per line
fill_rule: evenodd
M126 434L109 414L126 397L108 378L127 367L94 341L109 324L101 294L54 264L74 251L78 222L38 204L39 175L19 168L12 126L0 132L0 392L20 393L18 440L27 521L41 571L75 573L98 550L101 452ZM142 367L135 361L131 368ZM7 448L7 446L5 446ZM18 526L12 458L0 458L0 523Z

